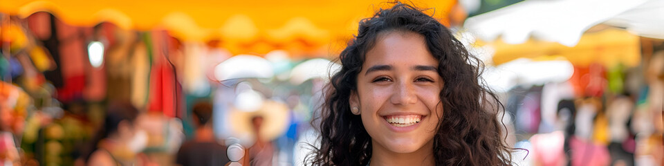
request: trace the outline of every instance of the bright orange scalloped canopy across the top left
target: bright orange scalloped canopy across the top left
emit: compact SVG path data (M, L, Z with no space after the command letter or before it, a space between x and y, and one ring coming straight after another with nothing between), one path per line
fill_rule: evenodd
M447 18L457 2L413 3L420 8L435 8L436 18ZM389 4L380 0L12 0L3 1L0 12L28 17L34 12L47 11L75 26L108 21L125 29L165 28L175 37L190 41L221 38L232 42L278 43L304 39L327 44L351 37L361 18L385 6Z

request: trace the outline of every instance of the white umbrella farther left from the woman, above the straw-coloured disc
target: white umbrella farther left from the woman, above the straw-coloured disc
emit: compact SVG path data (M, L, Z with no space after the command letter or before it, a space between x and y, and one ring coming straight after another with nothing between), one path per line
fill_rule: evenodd
M275 75L272 63L255 55L236 55L214 67L218 81L236 78L270 78Z

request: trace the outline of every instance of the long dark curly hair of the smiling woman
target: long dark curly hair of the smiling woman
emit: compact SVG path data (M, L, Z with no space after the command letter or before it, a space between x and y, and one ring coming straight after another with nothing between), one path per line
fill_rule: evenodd
M351 113L349 98L351 91L357 90L365 54L381 32L391 30L423 35L427 48L439 62L438 74L445 82L439 95L445 113L433 138L436 165L512 165L513 149L504 142L506 137L501 129L506 127L499 121L499 116L504 116L504 105L479 77L483 63L470 55L448 28L425 14L425 10L400 2L362 19L358 35L340 54L342 68L326 86L320 126L317 126L320 147L314 147L304 163L369 163L371 137L360 116Z

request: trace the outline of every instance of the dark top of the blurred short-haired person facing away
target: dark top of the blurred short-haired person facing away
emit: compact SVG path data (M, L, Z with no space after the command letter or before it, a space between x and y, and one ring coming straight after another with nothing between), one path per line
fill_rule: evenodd
M216 142L195 142L189 140L182 144L175 161L179 165L226 165L230 162L226 156L226 147Z

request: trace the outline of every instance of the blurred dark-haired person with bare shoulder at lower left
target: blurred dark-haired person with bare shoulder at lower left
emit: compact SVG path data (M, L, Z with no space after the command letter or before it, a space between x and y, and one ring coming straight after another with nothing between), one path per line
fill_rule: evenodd
M138 109L126 102L110 104L102 127L84 154L85 165L149 165L140 154L147 145L147 134L136 127Z

